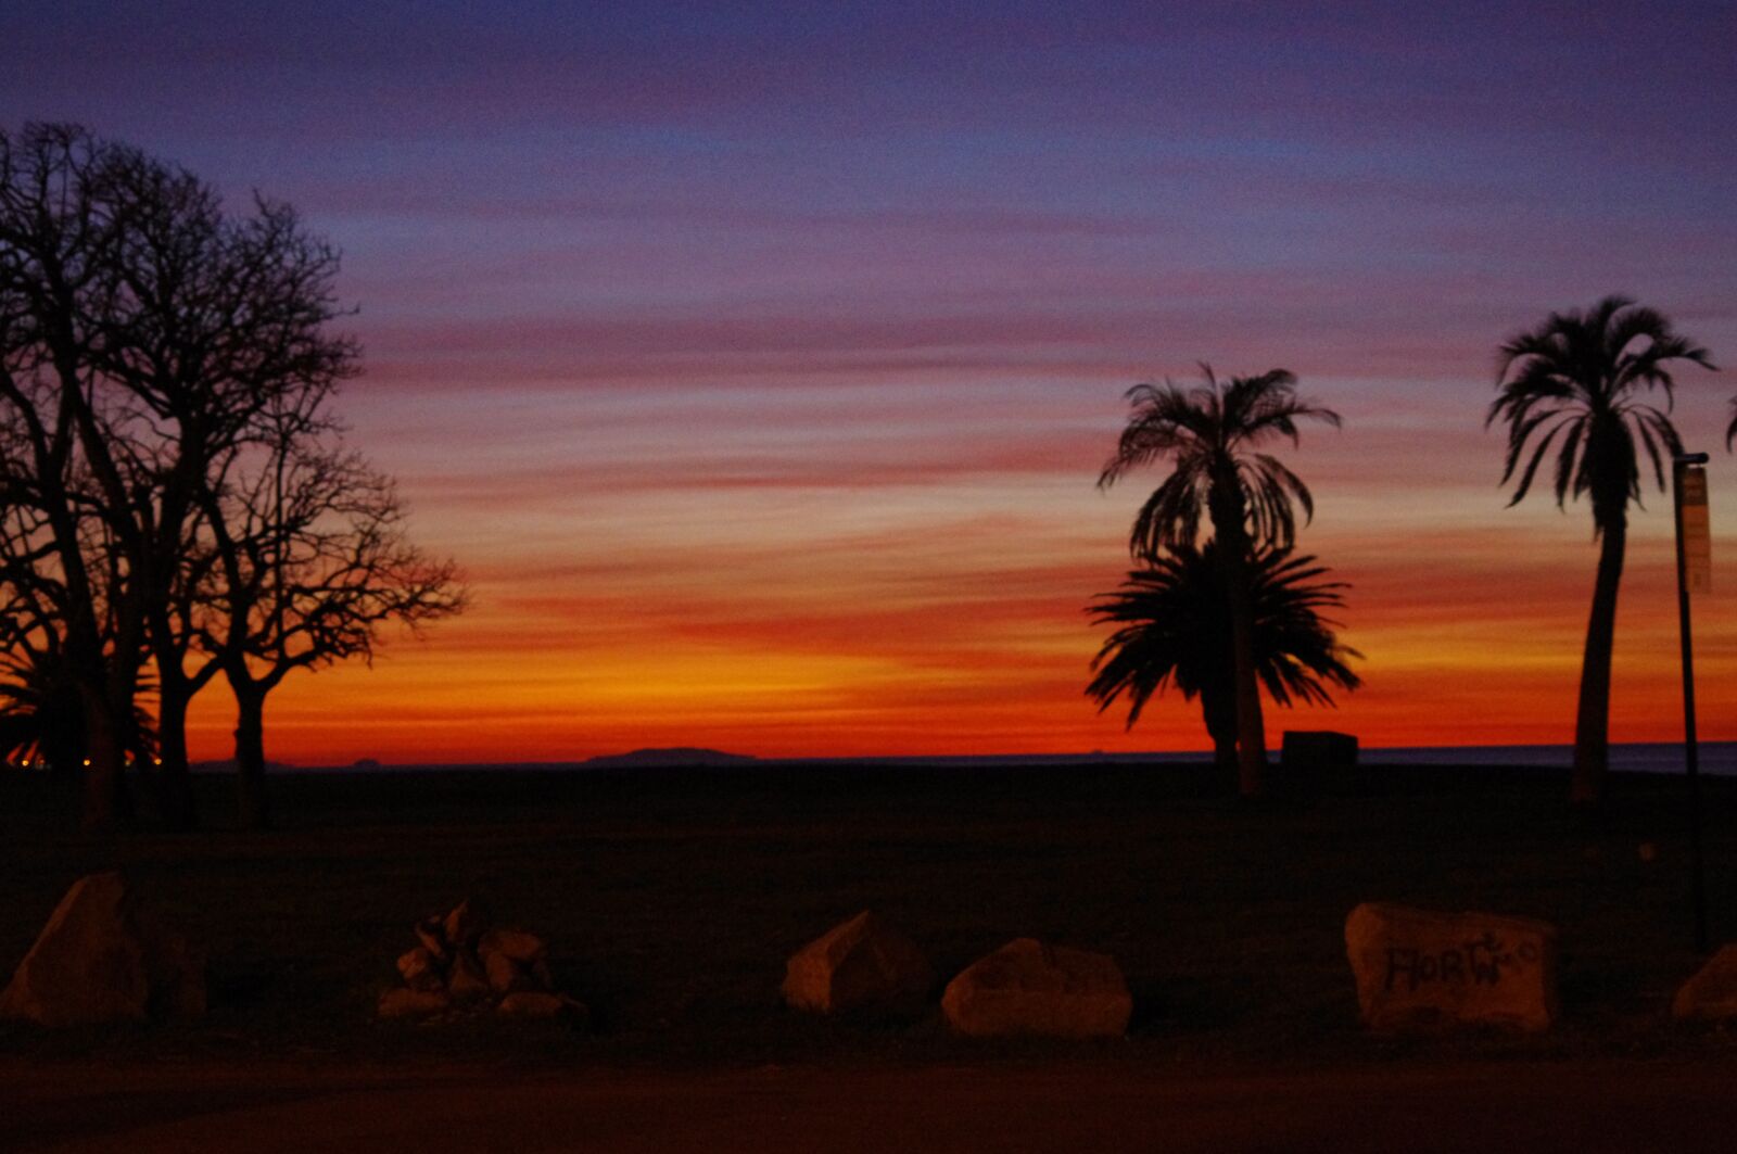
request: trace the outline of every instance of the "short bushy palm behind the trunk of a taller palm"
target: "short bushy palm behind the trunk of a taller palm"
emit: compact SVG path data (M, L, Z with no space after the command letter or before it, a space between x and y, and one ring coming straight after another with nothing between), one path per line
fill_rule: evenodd
M1218 766L1237 772L1237 690L1230 662L1230 598L1218 546L1186 546L1134 570L1117 593L1098 598L1094 620L1120 626L1093 659L1086 693L1108 709L1127 695L1133 728L1153 693L1174 685L1185 700L1200 699ZM1355 690L1362 678L1346 659L1362 657L1339 645L1337 622L1322 610L1344 605L1344 582L1317 580L1327 574L1313 556L1263 549L1249 563L1254 601L1254 664L1266 693L1280 706L1332 704L1329 685Z

